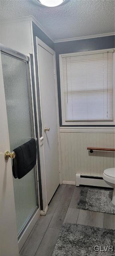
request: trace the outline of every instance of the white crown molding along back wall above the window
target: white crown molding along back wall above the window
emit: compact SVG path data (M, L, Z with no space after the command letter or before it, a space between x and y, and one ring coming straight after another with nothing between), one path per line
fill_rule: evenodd
M103 37L103 36L114 36L114 35L115 35L115 32L111 32L111 33L98 34L98 35L92 35L92 36L80 36L80 37L73 37L73 38L57 39L54 41L54 43L69 42L69 41L90 39L90 38Z

